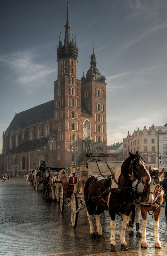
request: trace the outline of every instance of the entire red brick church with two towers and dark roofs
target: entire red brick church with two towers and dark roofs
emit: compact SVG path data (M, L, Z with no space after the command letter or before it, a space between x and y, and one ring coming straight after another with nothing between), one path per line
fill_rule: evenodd
M15 114L3 133L1 172L23 176L42 161L57 168L73 161L80 166L85 152L107 152L106 78L96 67L93 49L91 67L78 79L78 47L70 28L67 6L54 99Z

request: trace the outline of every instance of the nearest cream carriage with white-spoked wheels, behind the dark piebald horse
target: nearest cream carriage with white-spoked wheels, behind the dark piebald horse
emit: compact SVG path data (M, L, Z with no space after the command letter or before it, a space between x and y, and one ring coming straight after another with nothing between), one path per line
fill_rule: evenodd
M79 210L83 210L85 202L83 198L84 182L88 177L95 174L101 174L105 177L110 176L120 166L120 162L115 162L114 158L116 154L106 153L85 153L85 157L88 159L84 165L79 167L79 173L76 172L76 166L72 164L72 174L68 177L62 177L62 186L60 191L60 211L64 210L64 201L66 198L70 198L68 206L70 206L71 212L71 224L75 228L78 220ZM102 159L111 158L111 161L105 161Z

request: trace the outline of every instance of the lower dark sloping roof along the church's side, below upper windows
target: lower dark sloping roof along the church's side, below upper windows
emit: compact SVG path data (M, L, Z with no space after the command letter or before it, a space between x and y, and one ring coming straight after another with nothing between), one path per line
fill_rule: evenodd
M47 137L42 138L42 139L37 139L37 140L28 140L16 148L10 149L8 152L4 153L4 155L5 154L16 154L19 152L34 151L36 149L43 147L47 143L48 143Z

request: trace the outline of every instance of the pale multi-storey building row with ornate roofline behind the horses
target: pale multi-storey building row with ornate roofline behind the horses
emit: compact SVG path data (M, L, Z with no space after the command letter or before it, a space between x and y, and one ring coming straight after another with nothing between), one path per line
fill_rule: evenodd
M159 165L159 150L167 145L164 143L164 138L167 139L167 128L154 124L148 130L145 126L143 130L139 130L139 128L137 131L134 130L133 134L128 132L128 135L123 138L123 159L129 156L128 150L132 153L138 151L146 161L147 167L151 164L160 170L165 168L165 165Z

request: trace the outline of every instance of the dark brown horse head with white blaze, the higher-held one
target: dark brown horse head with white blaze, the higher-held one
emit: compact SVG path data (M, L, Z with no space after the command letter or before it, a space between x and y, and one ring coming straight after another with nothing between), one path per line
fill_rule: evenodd
M151 182L151 177L146 169L146 164L143 161L143 158L139 155L138 151L136 151L136 154L129 151L129 154L132 177L135 177L137 180L141 180L144 185L149 185Z

